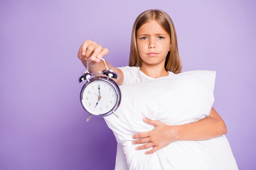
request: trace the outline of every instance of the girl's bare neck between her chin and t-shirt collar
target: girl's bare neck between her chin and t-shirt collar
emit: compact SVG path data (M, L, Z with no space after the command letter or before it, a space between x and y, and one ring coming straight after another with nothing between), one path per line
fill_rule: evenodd
M159 67L155 65L145 66L144 64L142 64L142 67L140 67L140 71L142 71L148 77L152 77L154 79L157 79L159 77L166 77L169 75L169 73L165 70L164 67Z

